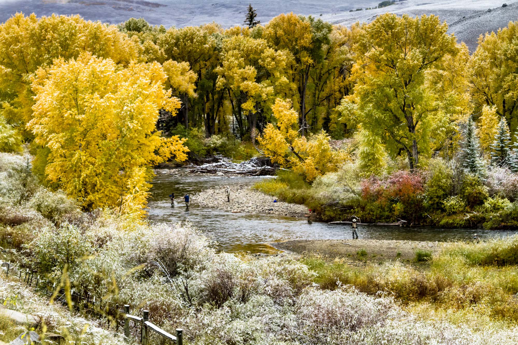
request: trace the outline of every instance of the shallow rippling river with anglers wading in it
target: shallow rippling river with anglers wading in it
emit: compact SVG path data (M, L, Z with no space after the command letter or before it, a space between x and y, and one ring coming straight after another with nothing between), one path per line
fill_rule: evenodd
M277 214L231 213L200 207L192 196L189 210L185 209L183 196L202 190L238 183L254 183L264 177L226 177L160 174L155 176L148 204L149 219L154 222L189 221L205 235L219 243L224 251L251 251L271 253L269 242L292 239L346 239L351 238L349 225L332 225L320 222L309 224L305 218L283 217ZM174 192L179 205L171 207L169 194ZM273 199L273 198L272 198ZM488 231L482 229L452 229L435 227L358 226L359 238L415 241L451 241L470 239L473 234L481 238L502 237L517 231Z

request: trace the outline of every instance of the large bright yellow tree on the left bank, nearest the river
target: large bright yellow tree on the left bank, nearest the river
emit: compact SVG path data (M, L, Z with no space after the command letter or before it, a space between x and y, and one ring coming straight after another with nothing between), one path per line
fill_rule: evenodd
M176 114L180 102L163 84L159 63L130 63L82 53L37 70L33 119L38 162L45 178L76 197L86 210L116 207L143 212L150 166L186 159L185 139L155 130L159 110ZM37 167L36 167L37 169Z

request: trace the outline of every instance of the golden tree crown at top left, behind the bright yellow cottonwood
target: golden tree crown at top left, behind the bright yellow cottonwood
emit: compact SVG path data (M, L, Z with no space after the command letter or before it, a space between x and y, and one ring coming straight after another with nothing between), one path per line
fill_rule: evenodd
M53 59L70 59L89 51L128 64L136 59L135 43L117 26L85 21L79 16L36 18L23 13L0 25L0 103L7 121L22 132L34 104L31 76ZM24 136L30 136L24 132Z

